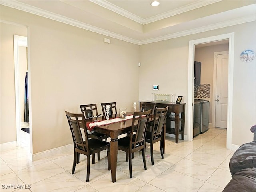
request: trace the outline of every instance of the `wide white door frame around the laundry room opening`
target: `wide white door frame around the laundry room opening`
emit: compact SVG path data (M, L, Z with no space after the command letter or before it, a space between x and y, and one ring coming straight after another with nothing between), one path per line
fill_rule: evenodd
M228 47L228 117L227 117L227 149L232 149L232 104L233 104L233 76L234 76L234 32L207 38L189 41L188 50L188 115L187 134L188 141L193 140L193 98L194 98L194 56L195 45L220 40L229 40Z

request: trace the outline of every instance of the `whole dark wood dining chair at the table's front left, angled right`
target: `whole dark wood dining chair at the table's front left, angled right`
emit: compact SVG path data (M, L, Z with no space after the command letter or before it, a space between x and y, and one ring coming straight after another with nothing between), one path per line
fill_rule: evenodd
M103 150L107 150L107 158L108 158L108 170L110 170L110 143L98 139L89 139L86 129L84 130L84 136L81 132L80 125L86 127L84 114L74 114L65 111L68 124L70 127L70 131L73 138L74 144L74 160L72 167L72 174L75 172L76 164L79 163L80 154L84 154L87 156L87 175L86 182L89 181L90 178L90 155L98 153Z

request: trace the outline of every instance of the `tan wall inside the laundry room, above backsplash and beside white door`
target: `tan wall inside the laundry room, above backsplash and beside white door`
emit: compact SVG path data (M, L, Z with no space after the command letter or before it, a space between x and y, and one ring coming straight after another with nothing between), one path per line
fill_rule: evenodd
M212 123L212 95L214 52L228 51L228 44L206 46L195 49L195 61L201 62L201 84L210 84L209 123Z

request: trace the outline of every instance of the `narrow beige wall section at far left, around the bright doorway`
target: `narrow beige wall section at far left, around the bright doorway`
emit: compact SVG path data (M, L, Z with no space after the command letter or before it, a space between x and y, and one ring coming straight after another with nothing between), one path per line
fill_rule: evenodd
M16 141L13 35L27 36L26 27L1 22L1 136L0 143Z

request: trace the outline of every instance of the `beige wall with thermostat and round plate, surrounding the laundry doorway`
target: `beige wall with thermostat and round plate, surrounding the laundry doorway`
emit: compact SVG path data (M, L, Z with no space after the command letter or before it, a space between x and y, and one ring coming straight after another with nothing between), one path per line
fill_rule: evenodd
M187 103L189 41L231 32L235 33L232 144L252 141L250 127L256 123L256 60L244 63L240 60L240 53L245 49L256 50L255 22L140 46L139 99L150 99L152 84L159 84L156 93L175 93L176 98L181 95L182 102Z

